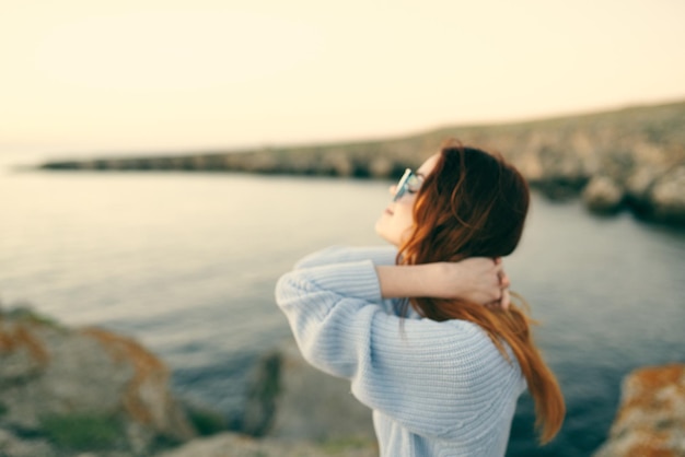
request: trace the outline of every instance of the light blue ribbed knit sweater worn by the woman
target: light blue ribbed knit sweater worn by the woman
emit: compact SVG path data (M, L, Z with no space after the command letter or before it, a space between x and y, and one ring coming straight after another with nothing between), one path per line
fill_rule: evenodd
M333 247L302 259L276 301L304 359L351 382L373 410L383 457L501 457L525 379L480 327L411 314L383 300L374 265L392 247Z

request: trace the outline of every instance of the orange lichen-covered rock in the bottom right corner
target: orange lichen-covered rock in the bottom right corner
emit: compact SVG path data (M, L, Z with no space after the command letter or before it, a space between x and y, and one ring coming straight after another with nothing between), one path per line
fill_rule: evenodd
M685 456L685 364L640 368L623 384L607 442L593 457Z

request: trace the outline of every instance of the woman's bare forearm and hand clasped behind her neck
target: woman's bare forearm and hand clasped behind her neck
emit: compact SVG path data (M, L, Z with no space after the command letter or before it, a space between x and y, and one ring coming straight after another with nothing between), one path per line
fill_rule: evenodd
M509 278L500 258L378 266L376 272L384 298L430 296L460 298L491 309L509 307Z

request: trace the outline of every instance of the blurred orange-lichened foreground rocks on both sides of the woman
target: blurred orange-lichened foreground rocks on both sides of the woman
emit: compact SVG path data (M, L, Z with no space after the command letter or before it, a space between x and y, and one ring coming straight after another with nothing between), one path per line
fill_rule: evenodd
M378 456L367 408L290 340L256 364L241 430L175 398L169 370L135 340L27 308L0 308L0 386L2 456ZM685 364L626 377L593 457L624 456L685 456Z

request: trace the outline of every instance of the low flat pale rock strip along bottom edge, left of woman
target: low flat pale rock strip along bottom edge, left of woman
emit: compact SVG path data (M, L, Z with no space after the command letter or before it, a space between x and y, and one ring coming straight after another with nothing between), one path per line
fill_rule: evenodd
M278 438L255 440L235 433L222 433L195 440L156 457L378 457L375 441L337 440L324 443Z

